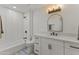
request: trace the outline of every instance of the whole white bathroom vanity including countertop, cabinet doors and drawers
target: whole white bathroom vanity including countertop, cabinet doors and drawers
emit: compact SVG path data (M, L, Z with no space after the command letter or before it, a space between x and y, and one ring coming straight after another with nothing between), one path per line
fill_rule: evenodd
M34 52L38 55L79 55L76 37L35 34Z

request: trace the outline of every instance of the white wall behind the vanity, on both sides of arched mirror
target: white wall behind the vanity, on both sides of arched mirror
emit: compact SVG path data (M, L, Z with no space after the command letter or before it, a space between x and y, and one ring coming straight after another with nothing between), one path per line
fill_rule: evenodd
M79 5L64 5L63 12L63 33L77 34L79 24ZM33 32L46 33L48 14L44 9L33 12Z

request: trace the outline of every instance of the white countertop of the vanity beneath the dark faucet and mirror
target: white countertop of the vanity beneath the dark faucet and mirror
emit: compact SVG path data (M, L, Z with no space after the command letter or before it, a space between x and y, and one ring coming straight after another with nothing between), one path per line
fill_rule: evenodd
M65 42L79 43L77 36L64 36L64 35L50 36L50 35L46 35L46 34L34 34L34 36L50 38L50 39L54 39L54 40L61 40L61 41L65 41Z

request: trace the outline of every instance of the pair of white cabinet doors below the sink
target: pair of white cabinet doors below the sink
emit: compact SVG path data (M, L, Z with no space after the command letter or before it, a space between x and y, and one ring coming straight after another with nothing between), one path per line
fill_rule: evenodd
M47 54L47 55L63 55L64 54L64 48L63 48L63 42L57 41L47 38L41 38L41 53L40 54Z

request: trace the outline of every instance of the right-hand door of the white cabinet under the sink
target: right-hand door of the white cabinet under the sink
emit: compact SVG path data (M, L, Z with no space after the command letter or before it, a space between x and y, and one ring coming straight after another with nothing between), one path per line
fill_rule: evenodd
M62 41L51 40L52 50L51 55L63 55L64 54L64 43Z

